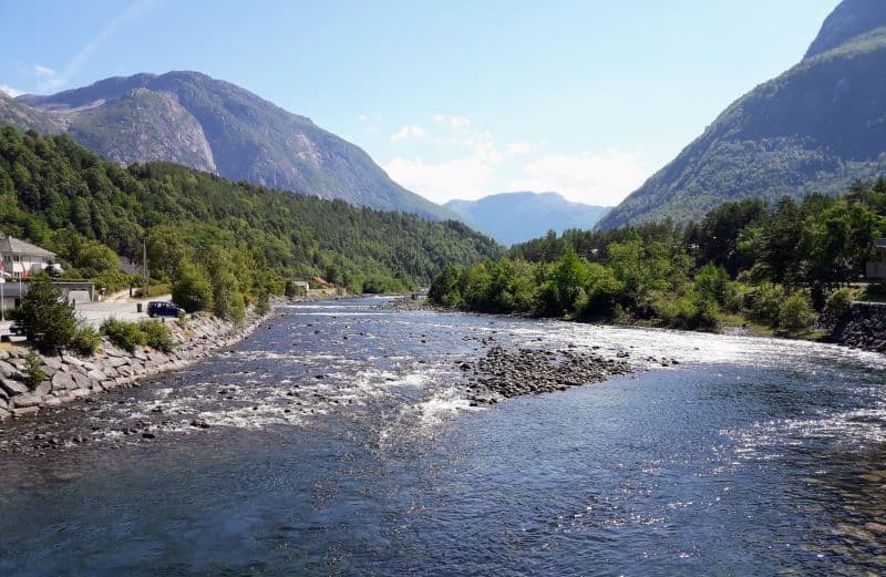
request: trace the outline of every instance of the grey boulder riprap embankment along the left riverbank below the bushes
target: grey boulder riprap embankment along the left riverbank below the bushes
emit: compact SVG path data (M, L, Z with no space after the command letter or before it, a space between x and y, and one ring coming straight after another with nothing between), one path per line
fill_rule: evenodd
M102 391L127 387L138 379L175 371L230 347L258 327L261 318L249 312L244 323L215 317L193 317L187 321L167 321L178 346L164 353L136 347L130 353L103 340L92 357L72 354L41 356L47 380L34 389L23 382L25 359L31 349L13 347L0 350L0 421L10 416L34 414L41 408L58 406Z

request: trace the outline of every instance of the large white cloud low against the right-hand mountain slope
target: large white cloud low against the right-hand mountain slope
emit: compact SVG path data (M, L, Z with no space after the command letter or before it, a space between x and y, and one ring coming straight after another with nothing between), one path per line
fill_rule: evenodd
M614 206L636 190L649 174L649 167L633 153L552 154L526 164L508 189L553 190L570 200Z

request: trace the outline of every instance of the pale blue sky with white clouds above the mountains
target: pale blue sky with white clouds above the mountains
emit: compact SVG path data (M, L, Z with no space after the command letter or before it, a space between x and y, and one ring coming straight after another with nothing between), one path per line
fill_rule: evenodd
M797 63L837 0L0 0L0 90L234 82L431 200L612 206Z

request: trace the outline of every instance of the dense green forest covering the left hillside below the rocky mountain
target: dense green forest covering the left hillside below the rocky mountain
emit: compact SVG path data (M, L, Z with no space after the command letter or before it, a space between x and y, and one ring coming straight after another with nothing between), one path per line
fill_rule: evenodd
M0 230L56 253L65 276L109 289L128 282L119 256L140 261L146 240L155 280L200 288L224 281L246 300L312 276L356 292L405 290L427 284L444 265L473 265L502 250L461 223L357 208L173 164L125 167L66 135L13 127L0 130Z

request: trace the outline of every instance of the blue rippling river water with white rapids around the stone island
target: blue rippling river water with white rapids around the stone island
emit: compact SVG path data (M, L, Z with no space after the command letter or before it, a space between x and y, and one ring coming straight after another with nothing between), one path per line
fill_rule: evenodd
M6 423L0 575L886 574L883 356L378 302ZM638 371L472 408L491 346Z

